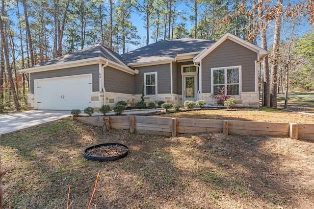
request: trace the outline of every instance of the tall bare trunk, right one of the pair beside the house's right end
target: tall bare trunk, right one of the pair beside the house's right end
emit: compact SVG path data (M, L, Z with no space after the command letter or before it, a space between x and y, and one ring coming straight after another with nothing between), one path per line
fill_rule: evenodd
M283 0L278 1L278 6L281 7ZM278 54L280 45L280 32L281 32L281 17L282 13L279 12L275 21L275 34L272 50L272 65L270 71L270 107L277 107L277 76L278 76Z

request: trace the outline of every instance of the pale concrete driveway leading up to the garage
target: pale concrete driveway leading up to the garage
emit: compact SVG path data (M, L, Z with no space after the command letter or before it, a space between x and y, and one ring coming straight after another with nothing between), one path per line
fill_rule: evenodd
M69 110L30 110L21 113L0 114L0 136L68 116L71 116Z

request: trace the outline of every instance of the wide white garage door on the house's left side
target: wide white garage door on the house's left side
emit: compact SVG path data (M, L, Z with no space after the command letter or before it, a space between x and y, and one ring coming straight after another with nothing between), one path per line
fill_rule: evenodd
M39 110L84 110L91 106L92 74L34 80L34 94Z

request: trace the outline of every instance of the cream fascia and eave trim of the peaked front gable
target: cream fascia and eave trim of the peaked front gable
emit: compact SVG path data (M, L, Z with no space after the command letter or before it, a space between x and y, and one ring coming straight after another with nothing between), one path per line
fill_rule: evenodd
M257 53L257 60L259 61L263 57L268 55L268 51L265 49L262 49L259 46L256 46L254 44L251 44L250 42L247 42L231 33L226 33L223 37L221 37L216 43L211 45L209 48L204 49L201 53L199 53L197 56L193 58L194 63L200 63L201 60L206 57L211 51L213 51L216 47L218 47L220 44L222 44L226 39L229 39L241 46L244 46L254 52Z

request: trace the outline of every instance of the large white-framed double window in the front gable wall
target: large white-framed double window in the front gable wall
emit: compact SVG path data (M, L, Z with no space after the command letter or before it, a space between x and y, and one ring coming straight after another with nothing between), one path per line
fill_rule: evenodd
M238 95L240 89L241 67L211 69L212 93ZM226 91L227 90L227 91Z

